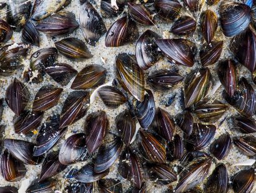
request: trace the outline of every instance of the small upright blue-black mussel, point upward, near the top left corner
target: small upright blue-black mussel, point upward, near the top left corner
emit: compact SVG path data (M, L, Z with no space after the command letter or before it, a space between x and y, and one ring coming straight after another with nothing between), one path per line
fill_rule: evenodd
M22 42L27 44L39 46L40 44L40 35L37 32L34 24L31 21L27 21L24 28L22 29L21 34Z

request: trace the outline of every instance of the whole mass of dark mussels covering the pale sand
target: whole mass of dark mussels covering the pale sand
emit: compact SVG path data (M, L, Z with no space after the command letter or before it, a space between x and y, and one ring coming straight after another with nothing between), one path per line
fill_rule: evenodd
M54 43L55 47L31 54L22 81L13 78L5 90L5 98L0 100L0 115L4 108L10 108L15 113L12 120L15 133L37 134L36 141L6 138L5 127L0 126L2 177L9 182L19 181L26 175L26 165L42 162L40 176L26 192L54 192L56 174L67 171L71 164L86 161L80 169L66 172L68 183L59 191L123 192L121 181L107 178L111 166L119 159L116 175L130 182L127 192L152 192L147 190L146 181L169 184L166 191L176 193L225 193L230 189L253 192L256 123L252 116L256 111L256 95L248 77L238 77L237 67L240 64L247 67L252 82L256 83L256 4L209 0L206 2L209 9L202 11L204 0L102 0L99 14L89 1L81 1L78 23L72 12L61 11L69 3L70 0L36 0L33 5L27 0L1 3L2 44L11 39L13 31L22 33L22 42L1 45L1 77L10 76L22 67L31 46L39 47L39 32L56 36L71 34L80 27L87 44L92 46L97 46L104 34L106 47L137 41L135 55L118 54L116 78L105 83L107 70L101 65L87 65L77 72L71 65L56 63L58 54L76 61L93 57L85 42L76 37L61 39ZM220 5L219 19L210 9L217 4ZM190 16L184 12L190 12ZM117 19L107 30L101 16ZM139 36L138 26L157 26L160 20L172 22L170 32L179 38L163 39L150 30ZM219 23L225 37L231 39L227 52L232 57L218 62L225 45L214 39ZM200 48L184 38L195 31L200 31L205 42ZM200 49L202 67L190 71L185 78L175 69L160 70L145 77L145 70L164 57L172 64L194 66L197 49ZM217 62L217 75L224 87L222 97L227 103L208 95L214 90L208 66ZM74 91L64 101L60 115L52 113L41 123L44 112L59 102L63 88L42 86L29 106L30 91L26 84L41 83L46 74L63 88L74 78L71 84ZM145 84L156 92L166 92L183 79L182 113L173 118L168 111L155 107L154 95ZM107 113L95 111L86 116L84 133L72 134L58 151L52 151L65 136L68 126L86 115L96 95L105 108L114 109L126 103L126 110L116 117L116 134L109 132ZM214 123L229 108L237 110L237 116L230 119L237 132L244 136L231 138L229 133L224 133L213 140L217 132ZM178 134L177 126L182 131ZM232 143L248 156L245 165L250 167L229 177L225 164L219 163L211 173L214 163L229 154ZM208 146L210 154L204 152ZM172 162L178 164L171 167ZM17 188L0 187L0 192L14 193Z

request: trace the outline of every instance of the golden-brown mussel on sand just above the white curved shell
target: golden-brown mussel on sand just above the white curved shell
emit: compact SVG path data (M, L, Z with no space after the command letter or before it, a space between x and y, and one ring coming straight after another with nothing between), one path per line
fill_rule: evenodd
M105 82L106 75L107 70L101 65L89 65L76 75L71 88L79 90L97 87Z

